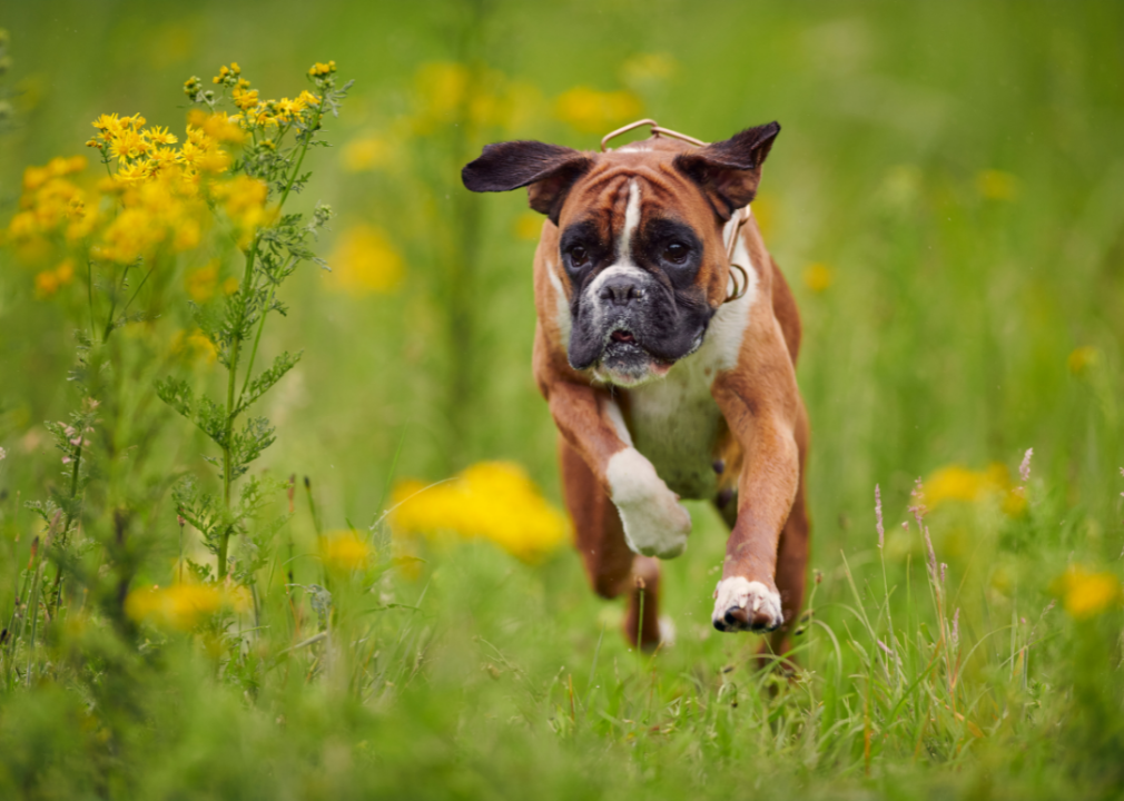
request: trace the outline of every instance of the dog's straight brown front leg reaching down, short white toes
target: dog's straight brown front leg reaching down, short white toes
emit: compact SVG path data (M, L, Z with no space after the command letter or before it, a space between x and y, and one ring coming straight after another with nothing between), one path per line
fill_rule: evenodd
M719 631L771 631L785 622L777 548L799 484L800 406L787 352L767 353L758 365L719 375L713 388L744 454L737 520L715 590L711 620Z

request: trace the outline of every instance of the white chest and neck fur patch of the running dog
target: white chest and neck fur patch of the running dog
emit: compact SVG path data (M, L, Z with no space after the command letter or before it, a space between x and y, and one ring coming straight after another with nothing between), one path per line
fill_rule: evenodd
M682 498L710 499L717 492L714 447L723 420L710 385L718 371L737 363L754 294L718 309L701 347L665 377L628 390L633 443Z

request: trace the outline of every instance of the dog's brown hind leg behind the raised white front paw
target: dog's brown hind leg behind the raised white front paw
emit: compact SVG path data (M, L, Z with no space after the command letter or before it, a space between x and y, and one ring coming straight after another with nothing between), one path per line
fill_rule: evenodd
M601 598L628 593L625 636L645 649L660 644L660 564L625 543L620 515L581 455L559 437L562 492L573 519L574 546L589 583ZM643 620L641 609L643 608Z

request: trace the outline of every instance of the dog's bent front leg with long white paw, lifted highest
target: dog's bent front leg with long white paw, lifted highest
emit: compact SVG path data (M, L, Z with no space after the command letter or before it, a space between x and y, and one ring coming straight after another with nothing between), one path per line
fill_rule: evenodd
M604 390L558 381L545 389L562 436L608 493L633 553L663 559L687 548L691 518L679 497L632 444L620 409Z

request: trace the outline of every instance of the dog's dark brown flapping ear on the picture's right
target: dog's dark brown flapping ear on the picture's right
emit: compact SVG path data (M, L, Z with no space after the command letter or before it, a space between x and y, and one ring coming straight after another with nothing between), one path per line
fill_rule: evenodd
M676 167L697 183L715 213L728 220L758 193L761 165L780 133L780 124L746 128L741 134L676 156Z

